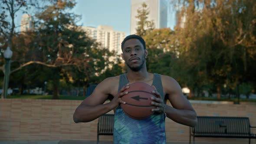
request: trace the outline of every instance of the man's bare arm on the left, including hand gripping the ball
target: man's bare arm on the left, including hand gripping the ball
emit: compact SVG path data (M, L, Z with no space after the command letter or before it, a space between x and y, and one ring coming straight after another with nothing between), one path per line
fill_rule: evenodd
M118 92L118 95L111 102L104 104L110 94L111 88L113 88L112 83L113 78L105 79L97 85L92 95L82 101L73 115L75 123L93 121L99 116L113 110L119 103L124 103L119 97L126 94L123 92L127 89L126 86Z

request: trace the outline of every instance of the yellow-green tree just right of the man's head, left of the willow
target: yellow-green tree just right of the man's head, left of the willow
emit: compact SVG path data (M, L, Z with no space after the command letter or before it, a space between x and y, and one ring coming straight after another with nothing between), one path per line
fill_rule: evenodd
M143 36L148 49L146 60L149 72L172 75L173 59L176 59L179 53L174 46L174 37L174 31L169 28L153 29Z

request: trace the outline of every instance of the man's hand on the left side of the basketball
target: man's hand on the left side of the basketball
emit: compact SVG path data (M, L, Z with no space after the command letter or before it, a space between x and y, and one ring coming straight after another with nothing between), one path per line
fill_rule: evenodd
M128 94L128 92L124 92L128 88L129 88L129 84L126 84L125 86L123 86L121 90L118 92L118 94L115 95L115 97L112 99L112 101L110 102L111 104L110 108L112 110L115 109L119 105L119 103L125 104L125 101L122 101L121 97Z

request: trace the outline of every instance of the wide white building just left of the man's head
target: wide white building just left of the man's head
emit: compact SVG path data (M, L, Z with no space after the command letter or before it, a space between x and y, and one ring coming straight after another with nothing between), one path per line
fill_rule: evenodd
M111 26L103 25L99 25L97 28L82 26L82 29L85 30L89 37L102 43L105 48L110 51L114 50L118 55L121 54L121 43L125 39L125 32L114 31Z

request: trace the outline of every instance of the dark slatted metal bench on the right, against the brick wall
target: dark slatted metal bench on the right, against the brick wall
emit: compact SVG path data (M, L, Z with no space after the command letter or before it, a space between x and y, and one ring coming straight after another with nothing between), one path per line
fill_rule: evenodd
M249 118L246 117L207 117L198 116L197 126L190 127L189 143L191 137L195 143L195 137L225 137L225 138L256 138L256 134L252 134Z

